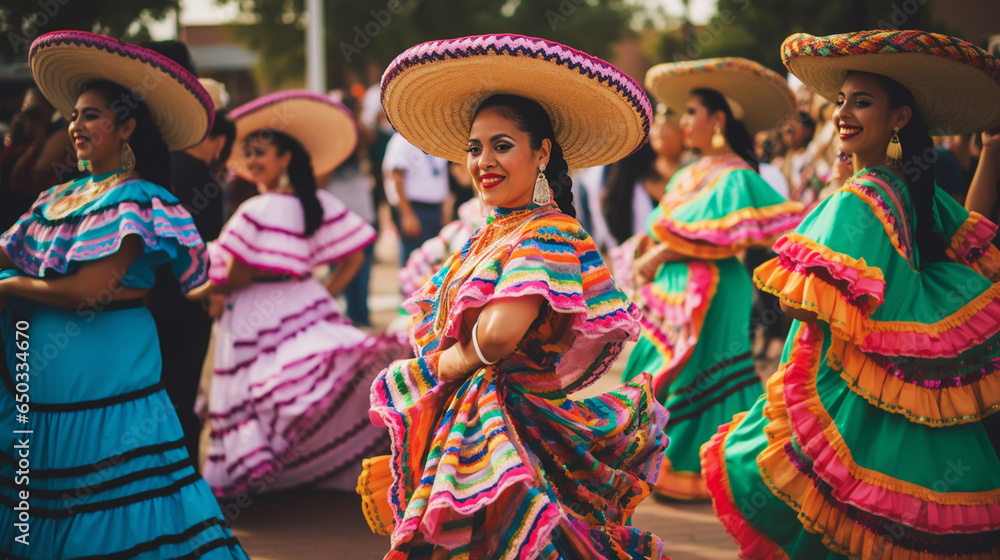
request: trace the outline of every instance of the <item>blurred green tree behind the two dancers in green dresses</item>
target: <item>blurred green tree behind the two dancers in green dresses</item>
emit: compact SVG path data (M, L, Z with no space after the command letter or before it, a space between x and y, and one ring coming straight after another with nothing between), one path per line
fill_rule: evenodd
M949 33L931 21L934 0L718 0L708 24L685 37L678 30L653 41L659 62L714 56L742 56L784 74L778 48L786 37L805 32L832 35L862 29L923 29Z

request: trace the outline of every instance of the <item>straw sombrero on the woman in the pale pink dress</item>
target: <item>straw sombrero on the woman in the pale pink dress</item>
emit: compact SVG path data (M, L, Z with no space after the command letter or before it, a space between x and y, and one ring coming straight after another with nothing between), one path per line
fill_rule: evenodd
M312 159L313 172L325 175L344 162L358 144L354 114L342 103L307 90L279 91L241 105L229 113L236 122L236 145L257 130L276 130L291 136ZM237 173L246 175L243 150L229 159Z

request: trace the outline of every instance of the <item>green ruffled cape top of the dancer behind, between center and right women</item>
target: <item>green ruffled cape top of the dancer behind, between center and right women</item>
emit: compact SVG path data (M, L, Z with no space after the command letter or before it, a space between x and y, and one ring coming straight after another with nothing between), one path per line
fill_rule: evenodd
M742 160L740 161L742 163ZM720 166L722 167L722 166ZM722 259L748 247L767 246L802 219L802 205L785 200L746 164L715 170L697 192L678 196L687 173L671 180L664 201L647 221L649 235L678 253Z

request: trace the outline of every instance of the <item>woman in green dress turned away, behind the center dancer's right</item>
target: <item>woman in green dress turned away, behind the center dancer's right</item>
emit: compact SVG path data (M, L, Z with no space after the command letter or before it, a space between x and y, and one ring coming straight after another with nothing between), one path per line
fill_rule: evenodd
M646 87L683 113L684 141L699 158L674 175L647 220L635 261L642 338L623 377L652 374L670 411L654 492L704 500L698 449L763 392L750 355L753 286L737 256L802 219L802 205L757 172L751 141L792 111L793 98L781 76L745 58L654 66Z

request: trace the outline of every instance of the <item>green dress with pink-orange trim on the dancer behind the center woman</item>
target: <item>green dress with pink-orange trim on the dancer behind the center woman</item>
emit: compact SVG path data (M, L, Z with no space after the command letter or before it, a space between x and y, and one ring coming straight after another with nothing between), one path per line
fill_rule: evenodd
M801 210L728 154L681 169L650 215L648 235L686 257L661 266L636 292L642 338L624 373L626 381L651 374L657 400L670 411L657 493L709 497L699 447L762 392L750 352L753 286L736 255L773 242L799 222Z

